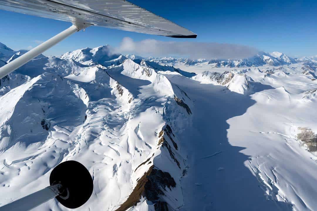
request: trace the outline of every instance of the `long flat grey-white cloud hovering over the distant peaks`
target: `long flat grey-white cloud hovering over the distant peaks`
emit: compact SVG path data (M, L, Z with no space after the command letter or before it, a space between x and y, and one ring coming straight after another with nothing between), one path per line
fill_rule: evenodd
M256 55L256 48L215 42L163 42L147 39L133 41L123 38L115 52L143 56L181 56L191 59L244 59Z

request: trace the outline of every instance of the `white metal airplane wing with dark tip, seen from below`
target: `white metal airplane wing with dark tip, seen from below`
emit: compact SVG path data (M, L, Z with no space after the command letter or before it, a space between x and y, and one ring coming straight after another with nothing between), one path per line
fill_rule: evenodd
M175 38L197 34L125 0L0 0L0 9Z

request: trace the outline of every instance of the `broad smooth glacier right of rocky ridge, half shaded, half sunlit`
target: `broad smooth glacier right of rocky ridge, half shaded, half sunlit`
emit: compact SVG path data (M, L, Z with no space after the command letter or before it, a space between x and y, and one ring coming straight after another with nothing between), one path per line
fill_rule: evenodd
M192 140L182 142L185 210L317 210L316 159L296 139L298 127L317 129L317 83L300 66L243 71L248 95L215 85L211 73L209 83L168 76L194 101L192 127L179 135Z

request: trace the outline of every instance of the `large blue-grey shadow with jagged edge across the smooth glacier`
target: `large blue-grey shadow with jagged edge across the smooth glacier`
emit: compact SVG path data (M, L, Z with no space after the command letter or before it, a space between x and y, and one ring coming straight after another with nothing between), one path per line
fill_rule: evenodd
M227 120L243 115L256 101L230 90L223 92L223 86L166 76L194 102L192 127L178 134L189 165L181 180L185 201L181 210L291 210L288 203L267 199L244 164L249 159L241 152L245 148L230 145L227 138ZM274 89L252 85L256 91Z

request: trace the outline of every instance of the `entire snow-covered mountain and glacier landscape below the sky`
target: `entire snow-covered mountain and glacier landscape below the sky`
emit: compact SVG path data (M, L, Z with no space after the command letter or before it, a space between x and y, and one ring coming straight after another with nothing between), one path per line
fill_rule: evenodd
M1 44L0 65L23 53ZM76 160L94 180L76 210L317 210L316 68L279 52L41 55L1 79L0 206Z

